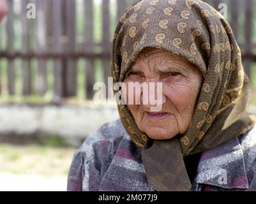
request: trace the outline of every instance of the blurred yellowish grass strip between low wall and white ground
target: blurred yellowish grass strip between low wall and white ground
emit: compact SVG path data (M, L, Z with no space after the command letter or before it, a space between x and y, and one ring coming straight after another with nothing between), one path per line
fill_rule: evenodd
M77 148L41 145L0 144L1 173L35 173L45 176L68 175Z

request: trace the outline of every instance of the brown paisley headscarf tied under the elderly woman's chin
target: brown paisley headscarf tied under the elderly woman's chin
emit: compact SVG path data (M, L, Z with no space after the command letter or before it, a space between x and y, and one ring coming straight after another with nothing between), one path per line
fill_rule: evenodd
M148 182L157 191L190 191L183 157L212 149L251 129L249 83L228 22L200 0L142 0L121 17L114 34L112 75L123 82L143 48L162 48L195 64L204 78L192 123L184 135L151 140L126 105L123 126L142 147ZM171 127L170 127L171 128Z

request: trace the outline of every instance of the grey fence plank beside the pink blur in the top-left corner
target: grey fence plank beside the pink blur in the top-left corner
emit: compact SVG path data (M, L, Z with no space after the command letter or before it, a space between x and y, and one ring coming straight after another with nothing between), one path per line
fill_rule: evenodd
M8 15L6 21L6 34L7 34L7 48L6 52L12 54L14 52L13 40L14 40L14 31L13 31L13 0L8 1ZM8 93L10 95L15 94L15 72L14 72L14 61L13 59L8 59Z

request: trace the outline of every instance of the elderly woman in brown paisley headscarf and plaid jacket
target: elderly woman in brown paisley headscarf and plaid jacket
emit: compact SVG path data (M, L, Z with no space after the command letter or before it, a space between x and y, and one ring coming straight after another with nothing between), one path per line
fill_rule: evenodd
M68 190L256 190L248 77L220 13L199 0L133 4L114 34L112 73L127 87L160 83L162 108L152 112L142 90L142 103L118 105L120 120L75 153Z

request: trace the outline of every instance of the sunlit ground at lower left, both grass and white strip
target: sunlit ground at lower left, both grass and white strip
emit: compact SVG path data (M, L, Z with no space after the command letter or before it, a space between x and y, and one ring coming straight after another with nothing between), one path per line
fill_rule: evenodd
M66 191L75 150L0 144L0 191Z

